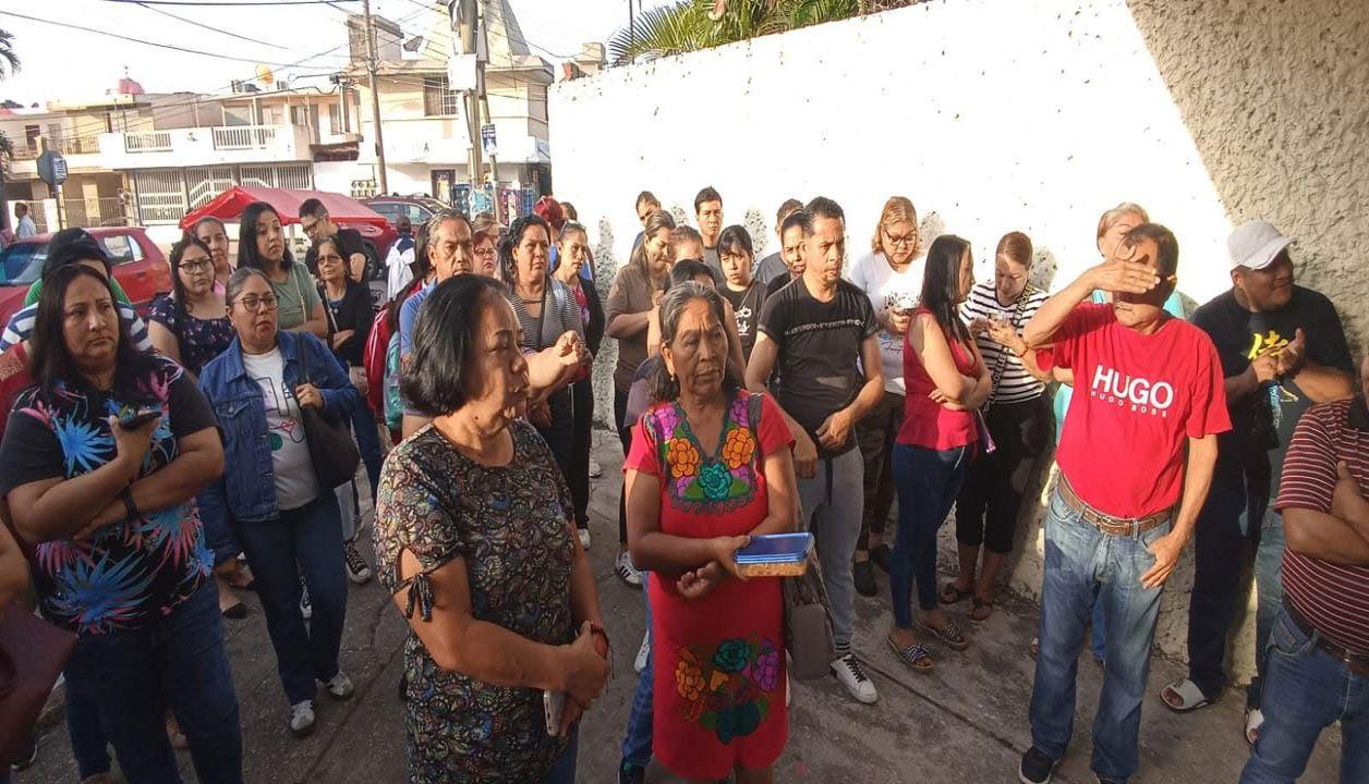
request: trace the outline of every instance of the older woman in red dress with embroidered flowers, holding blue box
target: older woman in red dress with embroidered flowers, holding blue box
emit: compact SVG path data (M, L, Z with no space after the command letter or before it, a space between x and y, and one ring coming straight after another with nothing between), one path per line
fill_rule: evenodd
M727 363L723 300L682 283L661 302L656 405L624 462L628 546L650 569L653 751L675 774L773 780L789 739L780 583L732 554L797 520L794 441Z

